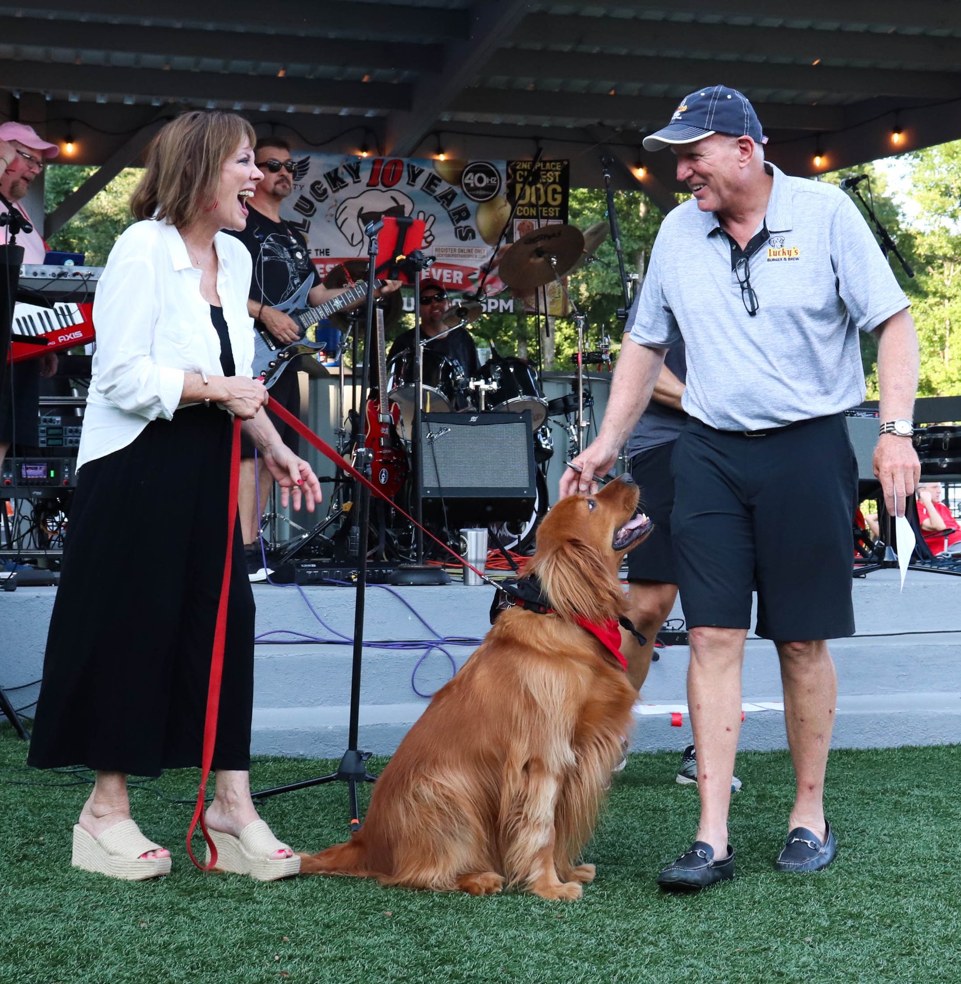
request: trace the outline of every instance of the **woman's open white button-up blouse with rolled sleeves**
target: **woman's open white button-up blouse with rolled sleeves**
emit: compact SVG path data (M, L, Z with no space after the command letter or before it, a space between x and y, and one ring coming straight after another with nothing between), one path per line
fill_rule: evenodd
M250 253L224 232L213 242L217 294L237 375L250 376ZM163 220L135 222L114 244L96 285L93 325L96 350L78 469L126 448L150 420L171 419L186 373L223 375L201 271L191 264L180 233Z

